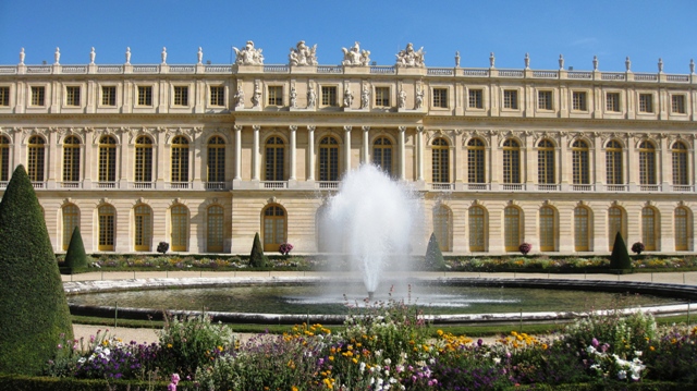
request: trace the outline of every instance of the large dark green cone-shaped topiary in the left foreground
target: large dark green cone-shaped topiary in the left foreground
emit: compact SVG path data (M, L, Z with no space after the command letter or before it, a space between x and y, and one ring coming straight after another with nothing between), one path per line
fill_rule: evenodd
M73 338L56 255L32 182L19 166L0 203L0 372L38 375Z

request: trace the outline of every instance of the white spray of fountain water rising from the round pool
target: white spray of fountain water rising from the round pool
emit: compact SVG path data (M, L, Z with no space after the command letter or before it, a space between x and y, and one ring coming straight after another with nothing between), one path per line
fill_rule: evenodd
M407 186L363 164L329 200L321 235L330 252L345 254L360 271L371 297L390 261L408 261L417 216L419 203Z

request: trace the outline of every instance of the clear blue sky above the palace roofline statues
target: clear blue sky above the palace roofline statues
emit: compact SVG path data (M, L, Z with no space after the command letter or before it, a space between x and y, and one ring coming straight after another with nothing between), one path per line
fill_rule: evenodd
M168 63L230 63L231 47L254 40L265 63L288 63L298 40L317 44L320 64L339 64L342 47L355 40L380 65L394 64L407 42L424 47L427 66L486 68L489 52L497 68L592 69L624 71L629 56L634 72L688 73L697 58L695 0L587 1L193 1L193 0L0 0L0 64L16 64L20 48L25 63L53 62L56 47L62 64L89 62L95 47L98 64L159 63L167 47Z

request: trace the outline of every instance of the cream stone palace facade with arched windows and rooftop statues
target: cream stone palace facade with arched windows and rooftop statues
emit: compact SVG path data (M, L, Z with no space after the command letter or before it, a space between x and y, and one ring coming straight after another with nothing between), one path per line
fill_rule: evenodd
M376 65L356 42L318 65L247 42L233 64L0 66L0 195L24 164L57 252L321 253L319 223L363 163L420 194L448 254L695 249L697 75ZM370 188L366 188L369 194ZM427 242L428 237L424 239Z

